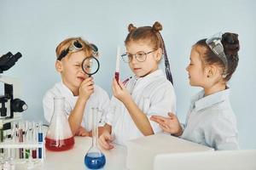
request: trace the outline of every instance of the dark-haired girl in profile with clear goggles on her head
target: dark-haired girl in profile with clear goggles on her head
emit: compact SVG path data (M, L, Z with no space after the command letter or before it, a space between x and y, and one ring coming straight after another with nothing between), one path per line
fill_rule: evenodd
M236 116L230 105L227 82L236 71L240 45L238 35L224 33L195 43L187 67L191 86L203 90L191 99L186 123L173 113L152 116L166 132L215 150L236 150Z

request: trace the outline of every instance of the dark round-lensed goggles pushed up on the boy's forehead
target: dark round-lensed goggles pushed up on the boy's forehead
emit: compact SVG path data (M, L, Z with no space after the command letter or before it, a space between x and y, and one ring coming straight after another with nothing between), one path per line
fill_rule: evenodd
M95 44L89 43L89 42L85 42L85 44L90 46L90 48L92 49L92 55L94 57L98 56L98 48L96 47ZM83 44L81 42L79 42L79 40L74 40L67 49L63 49L61 51L61 54L59 55L59 57L57 59L61 60L64 57L66 57L69 52L75 53L75 52L81 51L82 49L84 49Z

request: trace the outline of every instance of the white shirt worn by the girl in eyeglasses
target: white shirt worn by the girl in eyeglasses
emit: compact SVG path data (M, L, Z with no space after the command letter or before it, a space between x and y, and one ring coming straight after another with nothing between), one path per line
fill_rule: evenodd
M166 79L163 71L154 71L146 77L131 77L125 86L138 108L148 116L154 133L162 131L156 122L149 120L149 117L167 116L168 112L176 109L176 95L172 83ZM107 123L112 126L115 143L125 144L126 140L143 136L119 99L113 97L110 105Z

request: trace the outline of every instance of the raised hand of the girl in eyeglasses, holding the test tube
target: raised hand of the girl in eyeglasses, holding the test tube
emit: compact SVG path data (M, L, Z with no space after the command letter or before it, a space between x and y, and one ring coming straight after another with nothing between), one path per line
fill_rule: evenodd
M125 99L131 99L131 94L129 94L123 83L120 81L119 83L116 82L115 78L113 78L112 91L113 96L122 101L123 103Z

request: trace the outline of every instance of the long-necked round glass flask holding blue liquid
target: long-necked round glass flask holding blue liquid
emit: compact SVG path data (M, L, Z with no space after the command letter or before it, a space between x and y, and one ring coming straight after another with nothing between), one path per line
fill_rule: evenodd
M106 157L98 148L98 108L91 108L92 114L92 143L84 156L84 164L90 169L100 169L105 166Z

